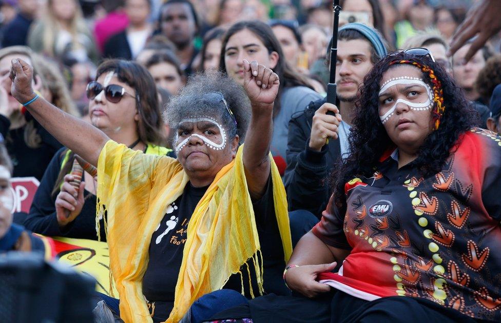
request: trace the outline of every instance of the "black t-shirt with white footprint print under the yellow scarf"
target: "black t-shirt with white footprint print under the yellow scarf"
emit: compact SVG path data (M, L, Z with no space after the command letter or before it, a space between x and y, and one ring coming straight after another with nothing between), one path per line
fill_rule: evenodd
M143 277L143 294L148 300L148 308L153 321L164 321L174 307L176 284L183 259L183 247L186 243L186 229L191 214L208 187L196 188L190 183L183 194L169 205L160 225L153 232L149 246L149 262ZM278 229L273 203L271 179L263 196L253 201L256 225L264 261L264 290L266 293L288 294L281 275L285 266L282 240ZM253 290L259 295L256 274L252 259L248 261ZM250 298L247 266L242 266L245 296ZM230 276L224 286L241 292L240 274Z

